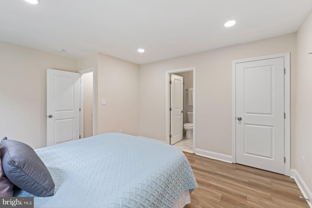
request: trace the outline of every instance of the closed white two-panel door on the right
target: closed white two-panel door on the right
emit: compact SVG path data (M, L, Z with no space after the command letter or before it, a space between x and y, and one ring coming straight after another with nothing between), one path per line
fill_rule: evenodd
M236 163L284 174L284 58L236 64Z

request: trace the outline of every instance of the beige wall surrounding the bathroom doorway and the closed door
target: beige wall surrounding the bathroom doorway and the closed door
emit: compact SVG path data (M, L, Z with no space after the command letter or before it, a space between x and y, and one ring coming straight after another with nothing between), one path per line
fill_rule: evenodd
M232 60L284 52L294 76L296 34L141 65L139 135L166 141L165 72L196 67L196 148L232 155Z

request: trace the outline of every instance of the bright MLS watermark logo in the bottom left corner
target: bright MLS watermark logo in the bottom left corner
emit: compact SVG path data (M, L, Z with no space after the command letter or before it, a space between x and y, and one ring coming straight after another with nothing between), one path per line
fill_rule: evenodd
M34 197L0 197L1 208L34 208Z

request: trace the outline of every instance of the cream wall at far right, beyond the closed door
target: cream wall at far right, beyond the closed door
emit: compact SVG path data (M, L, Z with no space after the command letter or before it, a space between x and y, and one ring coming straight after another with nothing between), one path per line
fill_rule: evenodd
M292 168L312 190L312 13L297 32L295 97L292 102ZM304 167L301 157L305 158Z

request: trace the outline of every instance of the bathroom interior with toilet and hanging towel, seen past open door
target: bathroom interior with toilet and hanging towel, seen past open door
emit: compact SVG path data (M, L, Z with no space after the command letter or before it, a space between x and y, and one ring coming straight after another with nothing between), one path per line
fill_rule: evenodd
M183 77L183 139L174 146L193 153L193 71L175 75Z

